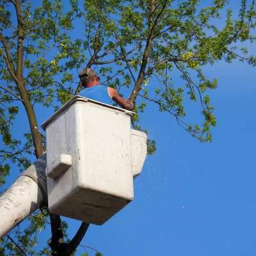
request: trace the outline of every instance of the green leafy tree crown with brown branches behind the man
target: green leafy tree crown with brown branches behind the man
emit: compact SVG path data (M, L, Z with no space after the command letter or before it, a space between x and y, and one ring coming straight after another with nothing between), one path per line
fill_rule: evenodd
M1 188L13 172L10 161L22 171L31 164L29 155L38 158L45 150L36 106L56 111L77 95L82 90L77 74L85 67L98 72L103 86L137 100L134 129L147 132L138 122L147 104L153 103L199 141L211 141L210 128L216 120L209 92L217 88L218 80L210 81L203 69L236 59L255 66L248 49L237 46L255 41L251 32L255 1L242 0L236 19L225 0L214 0L204 8L199 4L199 0L43 0L34 6L26 0L1 0ZM223 28L216 25L220 13L226 15ZM177 72L179 84L172 81ZM186 124L184 93L199 102L202 125ZM20 108L25 110L29 131L14 138L12 126ZM156 141L147 142L148 154L154 154ZM1 253L50 255L49 246L35 252L36 237L47 221L40 212L30 216L25 230L18 227L1 239ZM67 236L67 223L61 225Z

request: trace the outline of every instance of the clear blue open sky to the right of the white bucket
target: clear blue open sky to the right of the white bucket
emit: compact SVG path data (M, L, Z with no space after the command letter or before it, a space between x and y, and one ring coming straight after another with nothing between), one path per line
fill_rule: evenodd
M141 125L157 141L156 154L134 180L131 204L104 225L90 225L81 244L104 256L255 255L255 68L235 61L204 70L219 81L209 92L217 122L212 143L200 144L175 118L148 103ZM183 84L177 72L173 81ZM197 105L186 103L189 124L198 116ZM41 113L38 123L52 113ZM71 239L81 222L65 220ZM40 241L50 237L48 225Z

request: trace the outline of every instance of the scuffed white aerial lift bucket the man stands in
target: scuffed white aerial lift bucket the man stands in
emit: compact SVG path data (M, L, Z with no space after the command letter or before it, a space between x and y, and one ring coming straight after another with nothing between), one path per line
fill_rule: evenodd
M133 199L147 156L134 113L81 96L42 124L46 132L49 211L102 225Z

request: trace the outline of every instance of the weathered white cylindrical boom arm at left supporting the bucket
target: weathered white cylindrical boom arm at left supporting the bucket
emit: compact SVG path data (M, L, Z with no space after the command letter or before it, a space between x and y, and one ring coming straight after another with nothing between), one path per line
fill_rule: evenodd
M47 193L46 155L42 155L22 175L31 175L41 182ZM43 195L35 180L20 176L0 198L0 238L43 204Z

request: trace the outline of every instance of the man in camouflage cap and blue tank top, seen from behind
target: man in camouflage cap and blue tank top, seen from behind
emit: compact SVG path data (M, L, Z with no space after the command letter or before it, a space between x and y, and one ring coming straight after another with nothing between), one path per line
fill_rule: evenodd
M114 100L121 108L134 109L135 101L122 99L114 88L100 86L100 78L92 68L82 69L79 73L79 78L84 90L78 95L109 105L111 105L111 100Z

